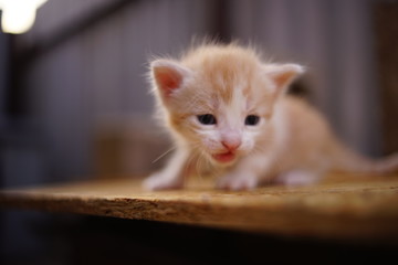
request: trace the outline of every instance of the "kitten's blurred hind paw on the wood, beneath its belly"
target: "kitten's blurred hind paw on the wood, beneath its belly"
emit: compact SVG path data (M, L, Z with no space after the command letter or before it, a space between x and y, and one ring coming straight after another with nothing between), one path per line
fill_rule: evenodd
M281 173L276 179L276 183L285 184L289 187L296 186L311 186L315 184L322 178L321 172L296 169Z

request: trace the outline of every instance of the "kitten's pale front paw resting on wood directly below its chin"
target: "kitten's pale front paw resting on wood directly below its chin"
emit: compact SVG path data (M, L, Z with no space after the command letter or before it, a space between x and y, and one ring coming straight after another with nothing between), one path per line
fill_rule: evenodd
M228 173L217 182L217 188L226 190L252 190L258 187L259 180L250 173Z

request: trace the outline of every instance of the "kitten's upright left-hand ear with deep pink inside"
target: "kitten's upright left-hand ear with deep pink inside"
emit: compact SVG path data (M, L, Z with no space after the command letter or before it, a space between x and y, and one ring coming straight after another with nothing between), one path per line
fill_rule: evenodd
M190 70L171 60L156 60L150 68L157 88L166 98L191 75Z

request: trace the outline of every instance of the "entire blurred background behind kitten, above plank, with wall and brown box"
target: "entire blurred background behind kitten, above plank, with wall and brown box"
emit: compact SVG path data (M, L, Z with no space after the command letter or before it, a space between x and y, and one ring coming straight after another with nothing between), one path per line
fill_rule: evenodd
M0 188L143 177L159 167L153 161L169 144L151 118L148 60L205 36L306 65L293 91L347 145L371 157L398 150L397 1L49 0L28 32L4 31ZM21 218L3 220L2 242L17 230L28 237Z

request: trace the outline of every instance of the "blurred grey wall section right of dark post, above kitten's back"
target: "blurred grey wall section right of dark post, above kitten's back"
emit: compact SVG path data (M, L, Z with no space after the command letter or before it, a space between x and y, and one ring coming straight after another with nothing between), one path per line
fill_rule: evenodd
M380 152L374 29L367 0L234 0L235 36L307 66L312 102L356 150Z

